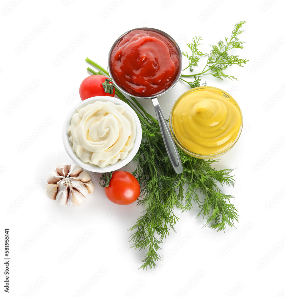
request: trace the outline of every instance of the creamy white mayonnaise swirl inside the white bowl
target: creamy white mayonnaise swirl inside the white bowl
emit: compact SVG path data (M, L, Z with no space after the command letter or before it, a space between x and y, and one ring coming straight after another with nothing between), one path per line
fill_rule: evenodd
M125 106L96 101L77 110L67 134L81 161L103 168L127 157L136 138L136 122Z

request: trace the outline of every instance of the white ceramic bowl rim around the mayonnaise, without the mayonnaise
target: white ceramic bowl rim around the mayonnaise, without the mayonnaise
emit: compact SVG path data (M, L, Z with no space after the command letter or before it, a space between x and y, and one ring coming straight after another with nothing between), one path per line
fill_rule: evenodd
M91 163L85 163L82 162L81 159L79 159L77 157L77 155L75 154L75 152L72 150L72 146L68 140L68 135L67 135L67 129L70 125L71 122L71 118L73 116L73 114L76 112L76 109L80 109L88 104L92 104L95 101L111 101L114 104L117 105L123 105L125 106L125 108L127 108L127 110L133 115L135 122L136 122L136 139L134 142L134 146L133 148L128 152L126 159L124 160L118 160L118 162L116 162L116 164L114 165L107 165L103 168L91 164ZM141 123L138 119L138 116L136 115L135 111L129 106L127 105L125 102L123 102L122 100L115 98L115 97L110 97L110 96L96 96L96 97L91 97L88 99L85 99L81 102L79 102L71 111L70 113L68 113L64 124L63 124L63 130L62 130L62 140L63 140L63 145L64 145L64 149L66 150L67 154L69 155L69 157L73 160L73 162L75 162L77 165L79 165L80 167L82 167L85 170L89 170L92 172L110 172L110 171L114 171L114 170L118 170L122 167L124 167L125 165L127 165L132 159L133 157L136 155L140 145L141 145Z

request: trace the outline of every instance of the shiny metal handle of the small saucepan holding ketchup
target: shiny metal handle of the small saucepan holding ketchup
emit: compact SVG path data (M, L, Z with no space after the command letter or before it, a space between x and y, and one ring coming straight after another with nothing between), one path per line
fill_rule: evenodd
M152 98L152 103L153 103L155 113L156 113L156 116L158 119L160 131L161 131L162 138L163 138L163 141L164 141L164 144L166 147L166 151L170 158L170 162L171 162L175 172L177 174L180 174L183 172L182 163L181 163L175 142L170 134L169 127L165 121L165 118L164 118L161 108L159 106L158 99L156 97Z

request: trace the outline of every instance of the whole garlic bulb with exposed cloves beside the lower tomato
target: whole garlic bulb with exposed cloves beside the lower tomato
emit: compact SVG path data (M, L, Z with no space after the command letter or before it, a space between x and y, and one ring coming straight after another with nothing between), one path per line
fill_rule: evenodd
M91 175L76 164L59 164L48 173L46 194L60 205L80 206L94 191Z

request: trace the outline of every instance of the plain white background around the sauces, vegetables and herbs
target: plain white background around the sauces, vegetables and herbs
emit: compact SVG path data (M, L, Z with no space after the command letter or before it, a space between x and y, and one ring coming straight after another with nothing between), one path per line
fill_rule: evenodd
M10 296L285 295L284 8L278 0L1 1L0 258L4 228L10 228ZM114 40L144 26L167 32L184 51L185 43L200 35L207 52L241 20L247 21L240 37L246 44L236 53L249 62L228 71L239 80L202 78L231 93L243 112L244 132L216 166L234 169L236 187L224 192L235 196L239 223L216 232L202 228L203 218L194 219L195 208L178 213L177 233L170 232L162 245L162 262L151 271L138 270L144 251L127 246L127 229L142 208L135 203L114 208L96 174L94 193L78 208L59 206L45 194L47 173L71 161L62 124L89 75L84 59L106 67ZM166 117L187 89L179 82L159 97ZM153 113L151 102L142 104ZM62 262L64 255L69 257Z

